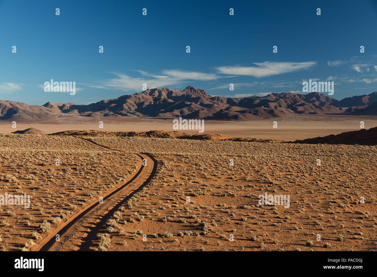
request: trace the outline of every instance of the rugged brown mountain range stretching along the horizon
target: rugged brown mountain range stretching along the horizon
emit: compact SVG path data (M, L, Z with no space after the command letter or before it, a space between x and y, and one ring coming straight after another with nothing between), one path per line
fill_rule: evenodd
M340 101L318 92L270 93L266 96L221 97L208 95L192 86L184 90L148 89L89 105L51 103L43 106L0 100L0 119L28 121L72 116L124 116L150 118L182 118L250 120L274 118L290 114L376 115L377 92L344 98Z

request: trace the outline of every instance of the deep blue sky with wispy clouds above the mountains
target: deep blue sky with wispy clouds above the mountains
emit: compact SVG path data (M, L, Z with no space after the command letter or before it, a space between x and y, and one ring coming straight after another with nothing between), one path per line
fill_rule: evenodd
M89 104L143 83L263 96L309 79L334 81L342 99L377 90L376 30L376 0L0 0L0 99ZM51 79L76 94L44 92Z

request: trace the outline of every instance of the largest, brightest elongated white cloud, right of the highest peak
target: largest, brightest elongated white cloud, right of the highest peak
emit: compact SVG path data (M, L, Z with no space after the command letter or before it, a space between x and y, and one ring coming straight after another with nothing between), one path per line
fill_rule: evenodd
M253 63L256 66L219 66L216 67L219 73L246 75L252 77L269 77L284 73L296 72L302 69L309 69L317 64L317 61L307 61L302 63L294 62L270 62Z

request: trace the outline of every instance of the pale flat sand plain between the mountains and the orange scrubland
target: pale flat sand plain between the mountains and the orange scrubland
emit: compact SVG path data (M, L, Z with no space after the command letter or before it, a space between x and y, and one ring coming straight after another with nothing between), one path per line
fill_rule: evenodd
M99 129L98 122L103 122ZM277 128L273 129L273 121ZM205 120L204 134L221 134L241 138L263 138L295 141L296 139L313 138L360 130L360 121L365 128L377 126L377 116L355 115L289 115L275 119L258 119L251 121ZM12 120L0 122L2 133L12 133L30 127L45 133L56 133L66 130L101 130L107 132L147 132L150 130L174 131L172 119L153 118L87 118L83 116L64 115L51 120L17 121L17 129L12 128ZM198 133L197 130L185 130L187 133Z

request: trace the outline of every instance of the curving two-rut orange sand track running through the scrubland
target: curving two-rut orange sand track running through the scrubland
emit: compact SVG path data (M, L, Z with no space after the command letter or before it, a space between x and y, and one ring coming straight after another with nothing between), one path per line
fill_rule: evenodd
M87 139L79 138L87 143L100 148L117 150L96 144ZM121 150L118 150L121 151ZM138 171L125 184L110 191L103 196L103 203L98 200L85 207L70 217L66 222L62 222L57 229L42 239L31 251L89 251L94 246L92 241L96 239L99 230L106 221L117 211L122 204L132 197L133 193L141 190L153 178L157 170L157 161L148 153L138 153L141 162ZM142 165L142 160L146 159L147 164ZM60 236L59 241L56 235Z

